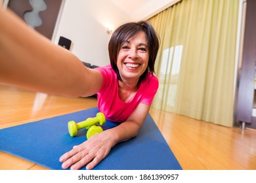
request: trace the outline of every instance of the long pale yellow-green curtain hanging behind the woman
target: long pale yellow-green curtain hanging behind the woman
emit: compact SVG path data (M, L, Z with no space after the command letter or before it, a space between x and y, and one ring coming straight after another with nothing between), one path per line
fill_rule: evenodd
M239 0L182 0L150 22L160 37L153 108L232 126Z

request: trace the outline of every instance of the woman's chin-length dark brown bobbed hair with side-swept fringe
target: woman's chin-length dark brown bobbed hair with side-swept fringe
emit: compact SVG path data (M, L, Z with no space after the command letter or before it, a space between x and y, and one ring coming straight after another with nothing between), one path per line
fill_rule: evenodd
M121 49L123 42L131 39L137 35L140 31L146 34L146 41L148 44L149 59L148 59L148 69L140 76L140 81L144 80L148 74L154 73L154 65L156 56L158 54L159 40L158 36L152 25L147 21L140 22L130 22L123 24L114 31L110 42L108 43L108 54L110 56L110 63L112 68L117 74L117 78L121 80L119 70L117 69L117 55Z

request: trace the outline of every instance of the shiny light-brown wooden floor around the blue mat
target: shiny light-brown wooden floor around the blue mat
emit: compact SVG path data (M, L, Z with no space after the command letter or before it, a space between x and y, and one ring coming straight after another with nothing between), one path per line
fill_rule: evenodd
M96 105L93 97L56 97L0 84L0 129ZM256 169L255 131L214 125L153 108L150 114L182 169ZM0 169L46 168L0 151Z

